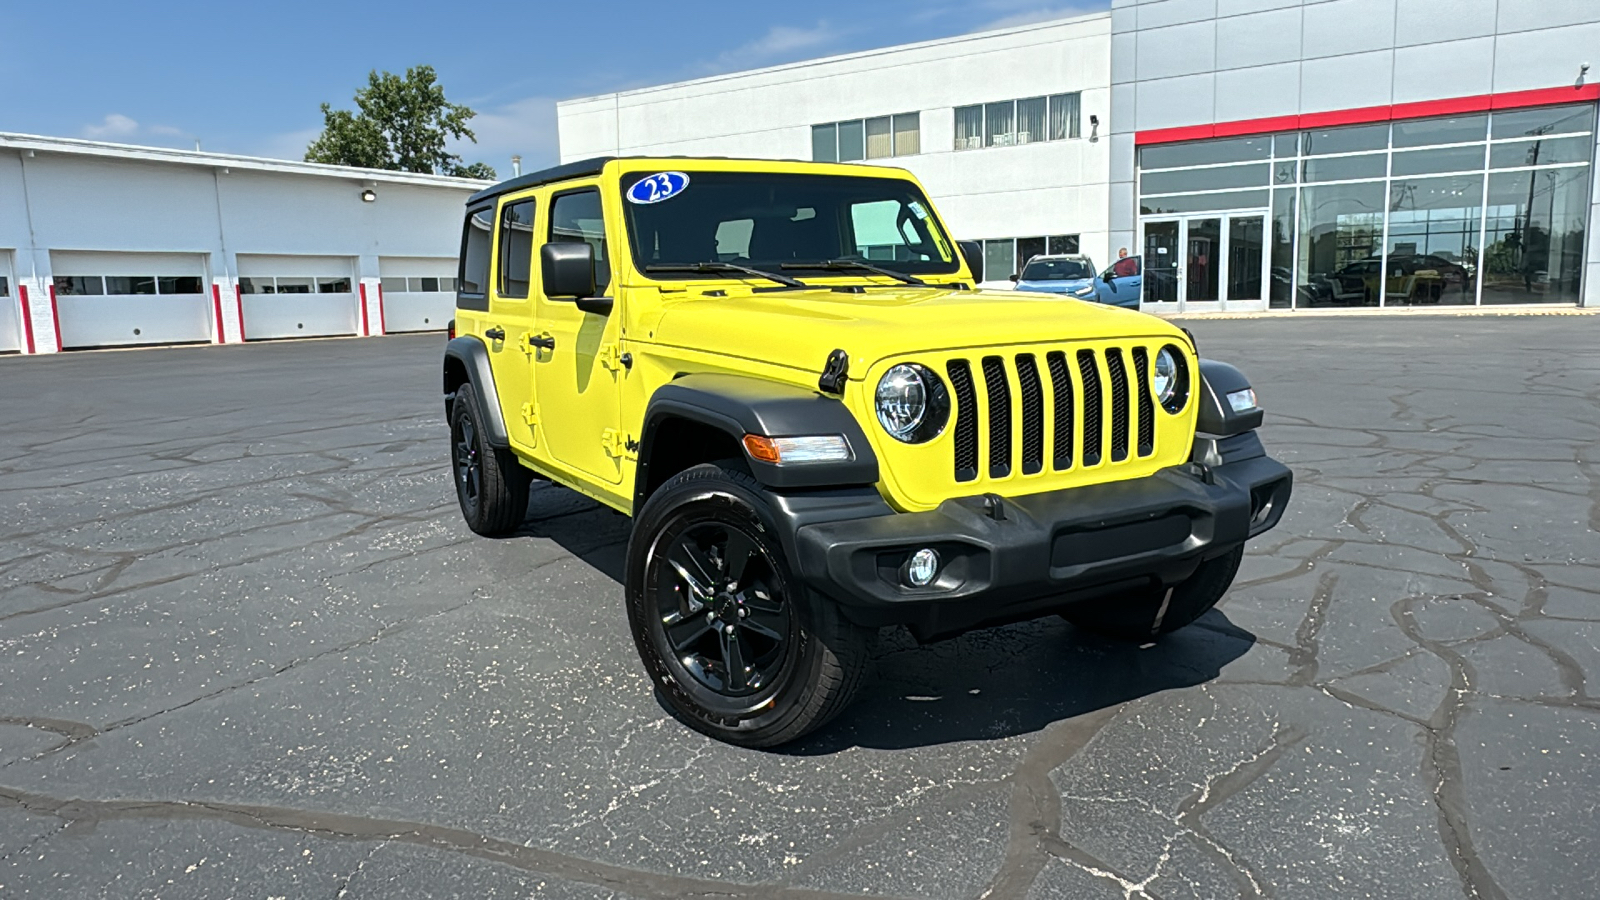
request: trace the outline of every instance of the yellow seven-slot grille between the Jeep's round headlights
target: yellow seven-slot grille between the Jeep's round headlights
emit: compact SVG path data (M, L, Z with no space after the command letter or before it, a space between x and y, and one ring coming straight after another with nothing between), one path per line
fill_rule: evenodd
M1003 479L1018 471L1034 476L1046 466L1056 472L1098 466L1106 453L1114 464L1155 453L1146 348L952 359L946 373L955 399L958 482L978 480L979 472ZM1021 444L1011 437L1014 420L1022 423Z

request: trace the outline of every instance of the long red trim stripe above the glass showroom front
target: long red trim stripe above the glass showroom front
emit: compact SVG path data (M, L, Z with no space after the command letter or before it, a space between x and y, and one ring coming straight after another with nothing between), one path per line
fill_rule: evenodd
M1392 106L1366 106L1360 109L1336 109L1331 112L1302 112L1272 119L1243 119L1214 125L1184 125L1179 128L1154 128L1133 136L1136 146L1174 144L1178 141L1203 141L1206 138L1242 138L1246 135L1272 135L1275 131L1299 131L1302 128L1334 128L1338 125L1368 125L1397 119L1427 119L1432 115L1466 115L1493 109L1523 109L1531 106L1560 106L1565 102L1600 101L1600 83L1539 88L1536 91L1509 91L1501 94L1475 94L1421 102L1397 102Z

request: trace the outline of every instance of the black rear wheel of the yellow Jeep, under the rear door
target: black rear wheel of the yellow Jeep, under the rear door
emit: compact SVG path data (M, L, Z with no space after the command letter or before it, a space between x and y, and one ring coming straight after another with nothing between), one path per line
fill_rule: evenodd
M450 407L450 474L467 527L485 536L514 532L528 514L531 472L510 450L488 445L472 384Z

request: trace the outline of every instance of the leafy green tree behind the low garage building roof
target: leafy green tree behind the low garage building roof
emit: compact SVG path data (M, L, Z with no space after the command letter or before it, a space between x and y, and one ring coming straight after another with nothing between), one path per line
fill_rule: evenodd
M374 69L366 86L355 91L355 106L350 112L322 104L322 135L306 147L306 162L494 178L490 165L462 165L459 155L445 151L451 138L478 141L467 128L477 112L445 99L432 66L406 69L403 78Z

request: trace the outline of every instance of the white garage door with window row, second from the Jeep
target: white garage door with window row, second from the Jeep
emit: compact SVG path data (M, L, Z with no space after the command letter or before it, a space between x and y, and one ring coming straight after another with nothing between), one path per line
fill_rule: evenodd
M354 335L360 306L349 256L238 255L245 340Z

